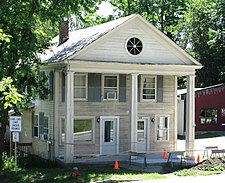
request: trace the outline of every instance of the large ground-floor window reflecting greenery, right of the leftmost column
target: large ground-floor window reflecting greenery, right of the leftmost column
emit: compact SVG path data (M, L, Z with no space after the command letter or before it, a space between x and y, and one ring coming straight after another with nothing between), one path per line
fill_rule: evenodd
M74 120L74 142L93 141L93 119Z

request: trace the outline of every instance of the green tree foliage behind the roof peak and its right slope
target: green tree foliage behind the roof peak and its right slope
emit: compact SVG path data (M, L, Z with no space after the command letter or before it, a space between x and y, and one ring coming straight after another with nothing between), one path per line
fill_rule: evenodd
M179 40L179 22L187 8L187 0L109 0L125 15L139 13L175 42Z

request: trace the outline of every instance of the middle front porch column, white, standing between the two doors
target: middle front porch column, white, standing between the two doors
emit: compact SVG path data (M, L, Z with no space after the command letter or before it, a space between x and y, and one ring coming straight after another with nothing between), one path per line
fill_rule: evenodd
M131 74L130 82L130 150L137 151L138 74Z

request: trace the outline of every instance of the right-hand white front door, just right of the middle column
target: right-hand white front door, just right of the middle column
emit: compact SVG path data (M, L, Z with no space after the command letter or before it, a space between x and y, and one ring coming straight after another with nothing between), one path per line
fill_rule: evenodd
M149 151L149 130L148 118L137 121L137 152L145 153Z

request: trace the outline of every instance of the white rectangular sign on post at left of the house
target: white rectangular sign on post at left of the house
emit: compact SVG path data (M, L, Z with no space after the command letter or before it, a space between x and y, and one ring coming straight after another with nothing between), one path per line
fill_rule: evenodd
M21 132L21 116L10 116L10 132L15 143L15 172L17 175L17 142L19 142L19 132Z

